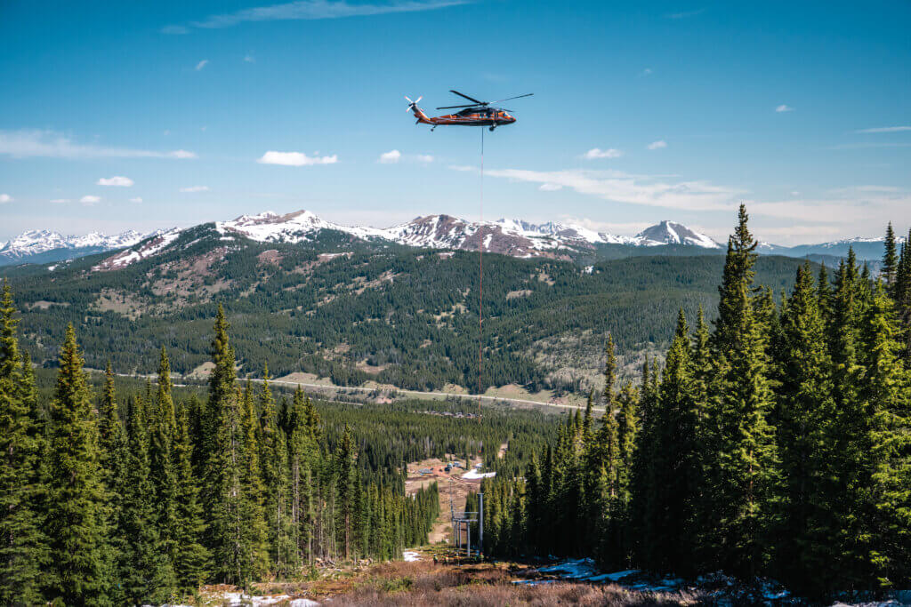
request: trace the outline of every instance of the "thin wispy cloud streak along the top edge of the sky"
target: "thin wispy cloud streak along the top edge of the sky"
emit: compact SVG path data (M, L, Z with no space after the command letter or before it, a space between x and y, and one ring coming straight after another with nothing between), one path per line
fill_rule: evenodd
M190 28L213 29L251 21L340 19L343 17L413 13L447 6L465 5L471 0L392 0L383 4L349 4L347 0L297 0L282 5L256 6L225 15L210 15L189 25L167 25L162 34L187 34Z

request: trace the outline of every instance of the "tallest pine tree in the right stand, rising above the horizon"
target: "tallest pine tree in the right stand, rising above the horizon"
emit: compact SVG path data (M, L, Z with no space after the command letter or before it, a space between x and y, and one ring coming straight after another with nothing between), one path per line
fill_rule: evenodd
M768 416L767 296L752 295L756 241L741 205L728 241L719 317L712 336L716 380L710 388L710 439L706 467L712 484L701 505L702 521L719 521L705 546L713 564L754 575L768 559L764 542L767 507L774 484L773 427ZM758 304L758 306L757 306ZM703 530L706 531L706 530Z

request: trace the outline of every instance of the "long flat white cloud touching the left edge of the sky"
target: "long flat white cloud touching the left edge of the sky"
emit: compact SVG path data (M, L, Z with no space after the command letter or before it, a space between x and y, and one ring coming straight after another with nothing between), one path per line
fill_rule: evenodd
M195 158L186 150L156 152L128 147L77 144L69 137L46 130L0 130L0 156L17 158Z

